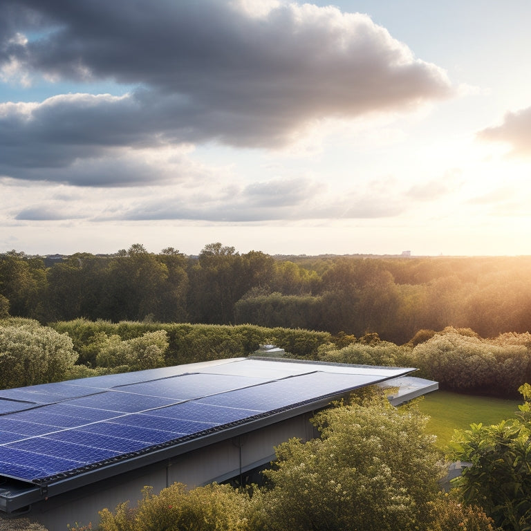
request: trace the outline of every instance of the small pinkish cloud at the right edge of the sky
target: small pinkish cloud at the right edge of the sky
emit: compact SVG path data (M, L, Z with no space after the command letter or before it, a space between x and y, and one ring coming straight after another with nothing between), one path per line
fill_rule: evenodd
M478 138L510 144L515 155L531 155L531 107L507 113L501 125L479 131Z

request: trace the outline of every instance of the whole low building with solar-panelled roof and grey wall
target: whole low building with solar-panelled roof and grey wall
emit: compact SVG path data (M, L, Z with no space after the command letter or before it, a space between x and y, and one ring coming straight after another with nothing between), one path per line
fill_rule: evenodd
M0 512L64 530L145 485L241 477L317 436L308 420L330 401L413 371L248 357L0 391ZM399 401L436 389L407 382Z

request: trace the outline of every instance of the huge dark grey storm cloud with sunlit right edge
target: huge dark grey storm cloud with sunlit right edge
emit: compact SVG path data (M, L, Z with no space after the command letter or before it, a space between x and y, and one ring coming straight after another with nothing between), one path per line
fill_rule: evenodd
M125 178L104 172L65 179L66 169L79 175L75 165L89 159L118 167L124 147L283 147L316 120L409 109L452 93L442 69L413 57L366 15L252 5L4 0L4 77L12 71L19 80L111 80L133 89L3 104L0 149L7 155L0 174L120 185ZM153 178L131 175L137 184Z

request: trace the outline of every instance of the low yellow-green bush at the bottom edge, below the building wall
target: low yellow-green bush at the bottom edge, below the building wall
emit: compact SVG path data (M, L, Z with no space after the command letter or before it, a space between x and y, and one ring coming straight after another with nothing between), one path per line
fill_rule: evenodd
M247 531L249 499L229 485L186 490L174 483L153 496L146 487L138 507L100 512L100 531Z

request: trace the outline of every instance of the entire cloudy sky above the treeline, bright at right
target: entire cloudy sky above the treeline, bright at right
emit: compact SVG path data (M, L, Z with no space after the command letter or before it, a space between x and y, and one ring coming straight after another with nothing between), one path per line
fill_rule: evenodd
M2 0L0 252L531 254L528 0Z

